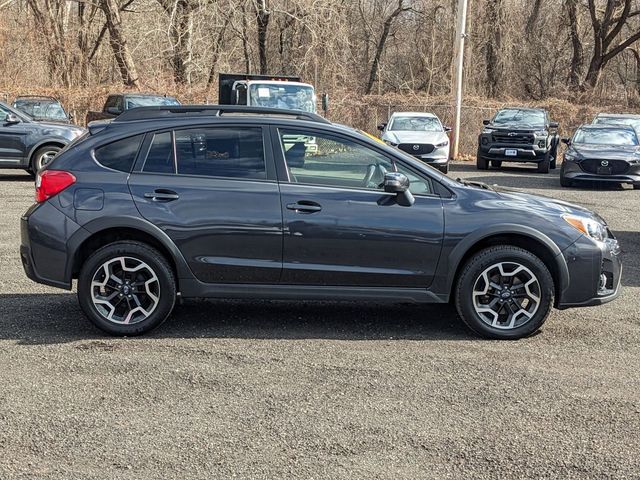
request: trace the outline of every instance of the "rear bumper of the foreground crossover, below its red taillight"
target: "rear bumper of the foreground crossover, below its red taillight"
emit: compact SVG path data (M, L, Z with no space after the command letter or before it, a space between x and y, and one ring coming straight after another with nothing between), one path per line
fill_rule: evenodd
M20 220L20 259L27 277L71 290L67 239L80 228L49 202L32 206Z

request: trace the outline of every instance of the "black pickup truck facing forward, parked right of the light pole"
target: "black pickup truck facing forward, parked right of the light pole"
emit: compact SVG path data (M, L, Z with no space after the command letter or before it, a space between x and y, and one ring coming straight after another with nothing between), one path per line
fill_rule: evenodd
M533 162L538 173L556 168L560 137L558 124L539 108L503 108L491 120L484 120L478 137L476 165L487 170L489 162L499 168L502 162Z

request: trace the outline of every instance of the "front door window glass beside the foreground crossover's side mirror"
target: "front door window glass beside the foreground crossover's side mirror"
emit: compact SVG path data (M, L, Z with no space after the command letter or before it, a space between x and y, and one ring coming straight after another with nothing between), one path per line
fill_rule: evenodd
M350 140L303 130L279 134L291 183L382 190L384 174L394 171L387 157Z

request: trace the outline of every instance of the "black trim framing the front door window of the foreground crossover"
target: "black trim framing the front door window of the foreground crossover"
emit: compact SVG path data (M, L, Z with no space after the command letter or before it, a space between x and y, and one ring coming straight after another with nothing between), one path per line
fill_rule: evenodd
M365 187L345 187L345 186L340 186L340 185L321 185L321 184L316 184L316 183L303 183L303 182L292 182L291 181L291 177L290 177L290 173L289 173L289 167L287 165L287 161L286 158L284 156L284 150L282 148L282 141L281 141L281 136L280 136L280 131L281 130L303 130L303 131L309 131L309 132L317 132L317 133L313 133L314 136L329 136L329 137L336 137L339 139L344 139L346 141L350 141L353 142L357 145L360 145L363 148L368 148L370 150L373 150L374 152L376 152L379 155L382 155L383 157L385 157L387 160L389 160L389 162L391 163L391 165L393 165L393 171L397 172L398 171L398 164L400 164L403 168L409 170L411 173L413 173L415 176L417 176L418 178L421 178L423 180L425 180L426 182L428 182L429 187L431 189L431 193L414 193L414 196L419 196L419 197L437 197L437 198L441 198L440 195L437 193L436 188L434 187L434 180L426 174L423 174L422 172L418 172L416 171L414 168L412 168L410 165L407 165L406 163L404 163L402 161L402 159L396 158L395 156L391 156L388 154L388 152L385 152L384 150L378 149L376 148L375 145L369 145L365 142L362 142L359 138L354 138L351 137L349 135L345 135L342 132L327 132L325 130L320 130L320 129L314 129L314 128L309 128L306 125L303 127L298 127L298 126L283 126L283 125L274 125L272 126L272 143L274 144L274 159L277 162L277 167L278 167L278 182L280 183L287 183L290 185L304 185L304 186L309 186L309 187L325 187L325 188L337 188L340 190L351 190L351 191L365 191L365 192L377 192L377 193L387 193L384 190L375 190L373 188L365 188ZM277 145L277 147L275 146Z

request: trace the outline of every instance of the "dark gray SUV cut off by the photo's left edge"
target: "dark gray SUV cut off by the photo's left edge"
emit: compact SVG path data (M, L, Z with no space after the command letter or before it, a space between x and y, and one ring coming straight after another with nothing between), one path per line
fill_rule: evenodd
M75 125L36 121L0 102L0 168L35 174L84 132Z

